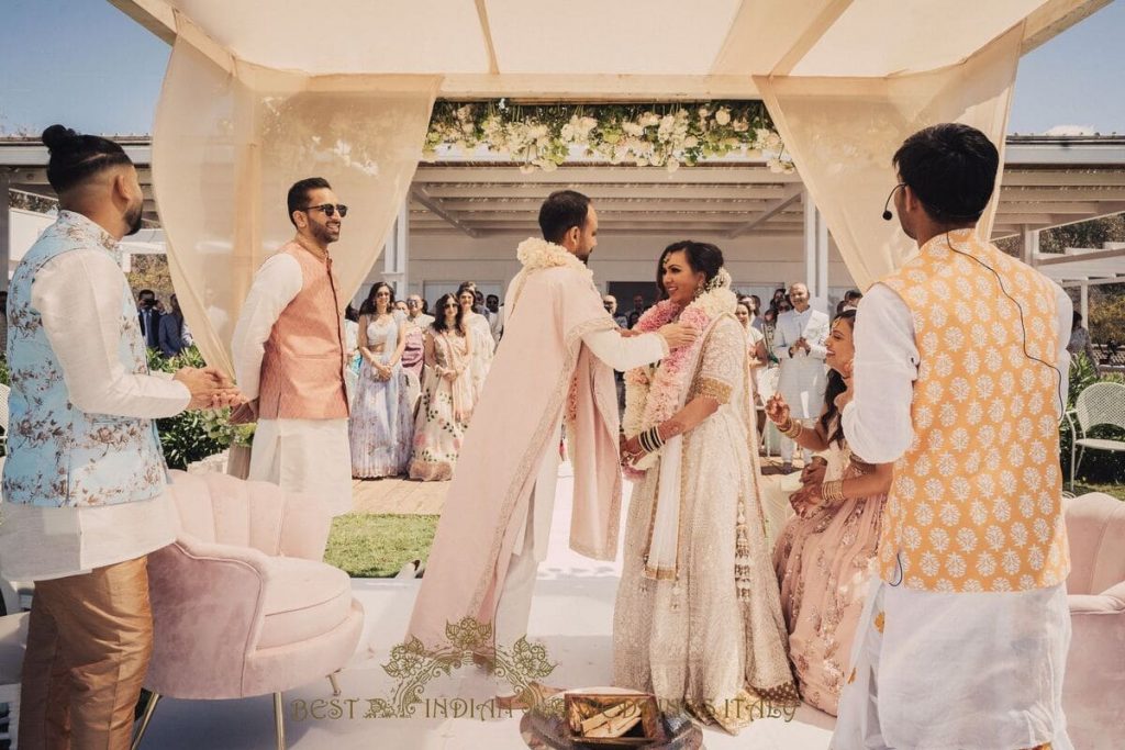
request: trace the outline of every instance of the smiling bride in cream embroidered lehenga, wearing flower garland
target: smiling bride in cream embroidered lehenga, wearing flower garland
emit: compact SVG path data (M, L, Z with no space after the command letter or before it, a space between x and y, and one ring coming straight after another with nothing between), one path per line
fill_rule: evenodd
M636 484L614 681L735 733L799 703L758 496L746 335L714 245L668 246L658 283L666 299L636 329L678 319L701 336L626 377L622 462Z

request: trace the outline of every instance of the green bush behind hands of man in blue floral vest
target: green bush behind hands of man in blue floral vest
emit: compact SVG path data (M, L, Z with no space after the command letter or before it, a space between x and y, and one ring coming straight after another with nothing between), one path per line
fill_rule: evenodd
M165 359L154 349L148 350L148 369L153 372L176 372L180 368L205 367L204 358L195 346L179 356ZM172 469L186 469L189 463L220 453L232 444L249 445L253 425L231 425L231 409L209 412L181 412L174 417L156 421L164 458Z

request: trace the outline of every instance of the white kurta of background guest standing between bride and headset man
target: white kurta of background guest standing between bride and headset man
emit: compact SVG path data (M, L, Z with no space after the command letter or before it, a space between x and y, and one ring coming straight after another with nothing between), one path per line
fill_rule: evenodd
M828 351L828 316L811 307L803 313L790 310L777 316L774 353L781 361L777 391L789 404L794 419L814 419L825 405L825 356ZM798 338L809 342L810 351L789 350Z

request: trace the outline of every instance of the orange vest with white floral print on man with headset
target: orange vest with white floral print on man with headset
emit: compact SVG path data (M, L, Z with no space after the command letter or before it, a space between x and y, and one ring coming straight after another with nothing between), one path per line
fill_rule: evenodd
M898 560L911 589L1061 584L1070 557L1054 287L972 229L938 235L882 283L910 309L920 355L914 441L883 512L883 580L899 581ZM1016 304L1027 353L1052 367L1025 356Z

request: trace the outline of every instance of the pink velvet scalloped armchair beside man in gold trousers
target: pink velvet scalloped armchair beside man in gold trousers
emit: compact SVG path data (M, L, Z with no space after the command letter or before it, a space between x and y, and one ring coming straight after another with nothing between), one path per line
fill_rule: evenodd
M351 580L325 564L331 516L316 498L227 475L172 472L177 541L148 557L154 644L152 701L273 694L285 748L281 693L328 676L351 658L363 611Z

